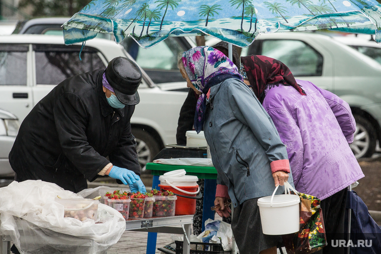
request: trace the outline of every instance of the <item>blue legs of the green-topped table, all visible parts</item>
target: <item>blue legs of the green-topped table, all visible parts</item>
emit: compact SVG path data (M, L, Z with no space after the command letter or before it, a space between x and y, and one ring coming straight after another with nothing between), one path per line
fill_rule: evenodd
M152 188L159 188L159 176L154 175L153 181L152 181ZM204 209L203 209L203 228L205 229L205 221L209 218L214 219L215 211L212 211L209 209L209 207L214 206L214 200L216 196L216 185L217 180L216 179L205 179L204 183ZM156 239L157 239L157 233L148 233L147 238L147 250L146 254L154 254L156 250Z

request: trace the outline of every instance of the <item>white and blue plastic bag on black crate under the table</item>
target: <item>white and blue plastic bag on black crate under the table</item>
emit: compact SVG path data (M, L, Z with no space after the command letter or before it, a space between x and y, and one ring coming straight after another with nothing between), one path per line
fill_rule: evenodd
M229 223L221 220L207 219L205 221L205 230L197 236L203 242L221 243L225 251L233 247L233 231Z

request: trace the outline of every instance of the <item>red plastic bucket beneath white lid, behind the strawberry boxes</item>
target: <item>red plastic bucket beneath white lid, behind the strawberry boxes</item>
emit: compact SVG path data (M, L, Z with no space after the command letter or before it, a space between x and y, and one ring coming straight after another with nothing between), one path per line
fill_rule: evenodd
M160 190L169 190L172 191L175 194L184 195L183 192L176 190L175 188L169 186L169 185L162 185L159 184ZM177 188L180 188L184 191L190 191L190 192L196 192L199 188L198 185L196 186L176 186ZM196 194L186 194L190 197L195 197ZM196 199L186 198L186 197L180 197L177 196L176 200L176 208L174 210L175 215L190 215L196 213Z

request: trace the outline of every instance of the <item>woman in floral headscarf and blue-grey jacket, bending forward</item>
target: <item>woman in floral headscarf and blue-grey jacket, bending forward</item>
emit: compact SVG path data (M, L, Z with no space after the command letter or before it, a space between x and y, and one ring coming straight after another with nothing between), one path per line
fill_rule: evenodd
M280 236L264 235L257 200L290 179L287 151L254 93L237 67L220 51L197 47L182 54L179 69L187 86L198 93L194 126L204 130L217 169L215 204L229 216L240 253L276 253ZM280 187L277 191L284 191ZM274 218L276 219L276 218ZM263 252L262 252L263 251Z

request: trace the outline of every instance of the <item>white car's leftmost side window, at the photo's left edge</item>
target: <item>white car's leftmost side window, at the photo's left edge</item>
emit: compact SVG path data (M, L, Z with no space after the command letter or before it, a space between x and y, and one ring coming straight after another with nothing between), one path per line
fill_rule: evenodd
M25 45L0 45L0 86L27 85L27 52Z

